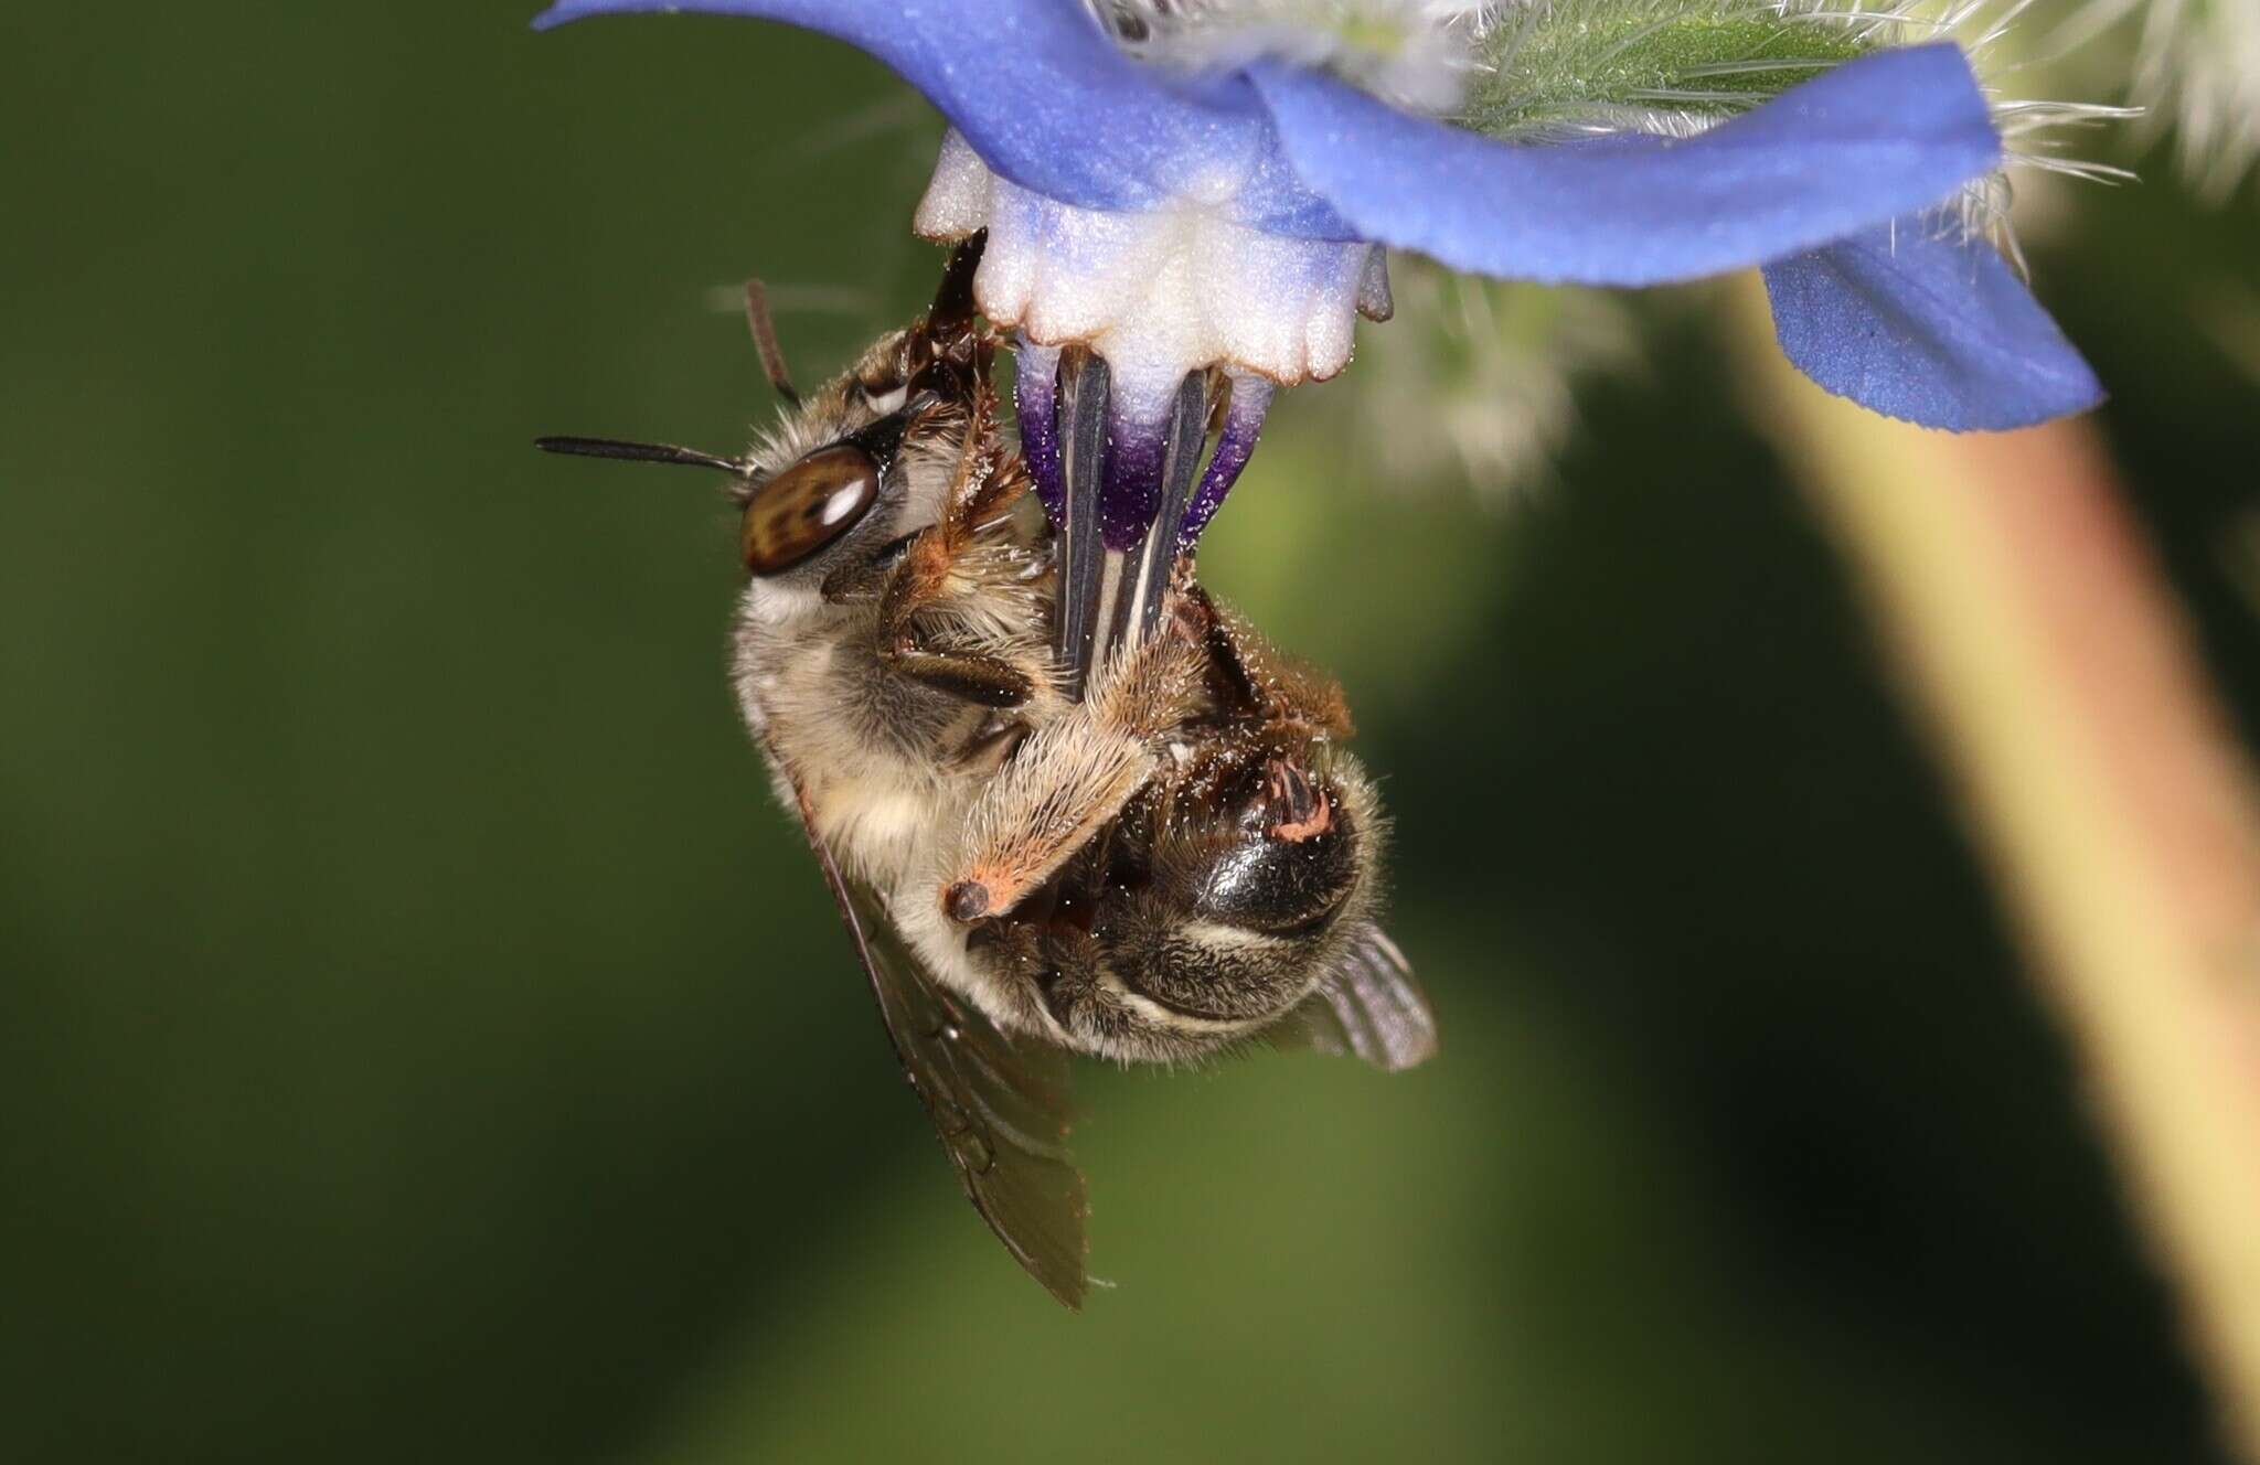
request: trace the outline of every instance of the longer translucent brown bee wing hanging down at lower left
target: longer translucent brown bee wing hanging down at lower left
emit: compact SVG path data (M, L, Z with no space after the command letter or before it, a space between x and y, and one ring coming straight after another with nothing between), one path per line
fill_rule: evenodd
M841 875L814 823L809 846L870 977L895 1058L927 1106L965 1198L1044 1291L1080 1309L1089 1289L1083 1271L1089 1207L1083 1171L1067 1155L1067 1054L1006 1038L931 981L879 898Z

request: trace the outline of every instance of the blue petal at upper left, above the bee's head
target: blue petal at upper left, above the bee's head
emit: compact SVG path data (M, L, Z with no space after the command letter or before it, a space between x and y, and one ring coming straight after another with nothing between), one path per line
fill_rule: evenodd
M1083 208L1150 208L1218 165L1241 179L1270 145L1270 118L1245 86L1162 86L1078 0L563 0L533 25L680 9L857 45L922 90L999 174ZM1290 217L1290 203L1275 208ZM1324 213L1309 197L1302 210Z

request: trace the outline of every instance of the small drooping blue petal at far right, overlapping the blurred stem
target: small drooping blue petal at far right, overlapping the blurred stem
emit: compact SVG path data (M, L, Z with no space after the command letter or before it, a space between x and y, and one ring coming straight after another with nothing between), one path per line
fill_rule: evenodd
M1790 362L1885 416L1998 432L2104 398L1991 244L1919 217L1767 265L1765 289Z

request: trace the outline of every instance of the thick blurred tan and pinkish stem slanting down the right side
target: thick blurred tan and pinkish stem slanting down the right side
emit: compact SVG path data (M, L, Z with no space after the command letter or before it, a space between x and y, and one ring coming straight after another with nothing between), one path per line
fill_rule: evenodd
M1889 423L1738 289L1756 421L1860 574L2260 1463L2260 803L2181 610L2093 427Z

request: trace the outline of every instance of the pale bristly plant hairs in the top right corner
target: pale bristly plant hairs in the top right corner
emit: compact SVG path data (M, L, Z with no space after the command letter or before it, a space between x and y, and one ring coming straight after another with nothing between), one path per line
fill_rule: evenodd
M2057 45L2075 47L2122 23L2140 25L2127 95L2145 111L2147 131L2172 127L2192 188L2224 199L2260 170L2260 5L2077 0Z

